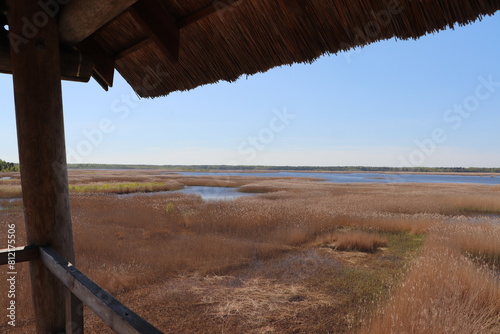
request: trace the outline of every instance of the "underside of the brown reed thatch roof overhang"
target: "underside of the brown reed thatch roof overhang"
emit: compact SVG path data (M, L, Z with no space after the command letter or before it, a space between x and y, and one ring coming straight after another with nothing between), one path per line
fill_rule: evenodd
M234 81L393 37L417 39L500 9L500 0L158 2L179 29L177 62L165 56L130 11L92 36L142 97Z

